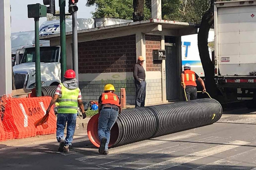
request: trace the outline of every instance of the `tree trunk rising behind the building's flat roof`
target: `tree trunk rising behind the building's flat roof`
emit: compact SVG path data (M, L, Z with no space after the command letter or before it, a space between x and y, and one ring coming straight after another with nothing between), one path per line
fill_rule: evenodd
M144 0L133 0L133 21L143 21L144 19Z

